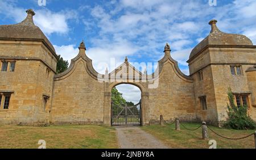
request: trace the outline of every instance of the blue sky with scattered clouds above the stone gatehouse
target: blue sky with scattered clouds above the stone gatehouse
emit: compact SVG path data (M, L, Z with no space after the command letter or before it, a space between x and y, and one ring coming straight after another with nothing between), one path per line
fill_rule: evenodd
M26 9L33 9L35 24L65 60L77 55L84 39L86 54L100 73L110 58L117 63L125 56L130 62L157 62L168 42L180 70L189 74L185 61L209 34L211 19L218 20L221 31L246 35L256 44L253 0L217 0L217 6L208 0L46 0L46 6L38 0L0 0L0 6L0 24L18 23L26 18Z

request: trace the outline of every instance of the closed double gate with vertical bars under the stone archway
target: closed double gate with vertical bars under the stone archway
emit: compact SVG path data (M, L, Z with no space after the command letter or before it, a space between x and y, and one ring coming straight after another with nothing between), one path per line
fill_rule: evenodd
M141 125L141 100L134 106L111 103L111 125Z

